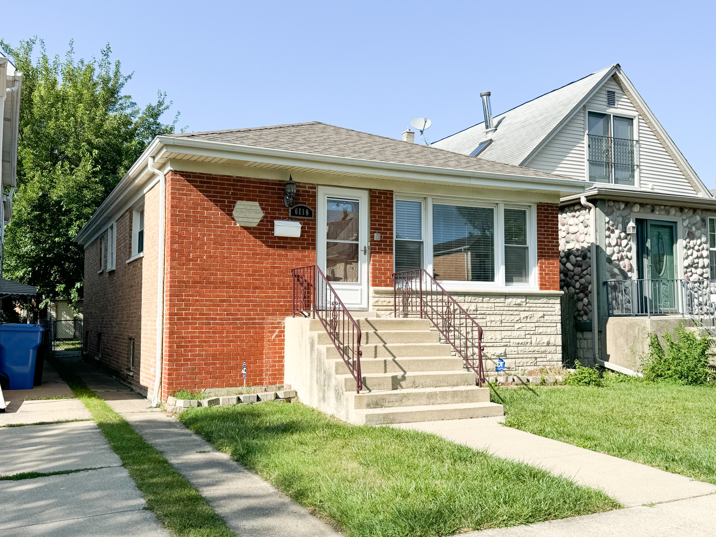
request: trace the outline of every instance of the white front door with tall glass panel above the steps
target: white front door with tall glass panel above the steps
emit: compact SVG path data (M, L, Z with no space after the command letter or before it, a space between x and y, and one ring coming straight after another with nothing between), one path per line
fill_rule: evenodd
M319 187L316 257L349 309L368 309L368 192Z

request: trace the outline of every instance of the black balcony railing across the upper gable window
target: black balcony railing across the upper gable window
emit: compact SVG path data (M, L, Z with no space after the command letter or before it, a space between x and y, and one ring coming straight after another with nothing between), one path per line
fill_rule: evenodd
M627 138L589 135L589 179L634 184L637 142Z

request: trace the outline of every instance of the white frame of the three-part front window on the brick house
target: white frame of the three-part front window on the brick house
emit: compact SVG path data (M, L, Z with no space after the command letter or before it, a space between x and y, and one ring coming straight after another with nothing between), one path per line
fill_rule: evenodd
M537 271L537 204L536 203L515 203L515 202L495 202L484 203L478 202L470 198L457 198L445 196L427 196L417 197L410 194L395 193L395 201L422 201L422 268L428 274L432 271L432 206L433 205L460 205L463 207L485 207L492 208L494 213L493 226L495 230L495 244L493 248L493 256L495 260L495 281L455 281L455 280L438 280L447 291L455 290L472 290L480 289L538 289L538 271ZM393 214L395 215L395 201L393 205ZM527 247L528 247L528 274L529 279L526 284L506 284L505 283L505 208L520 209L527 211ZM395 270L395 218L393 218L393 268Z

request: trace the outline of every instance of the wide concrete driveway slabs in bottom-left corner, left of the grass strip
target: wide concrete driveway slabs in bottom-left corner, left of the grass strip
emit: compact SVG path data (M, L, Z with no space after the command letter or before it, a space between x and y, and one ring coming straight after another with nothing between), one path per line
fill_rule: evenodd
M0 481L3 537L166 537L94 422L0 428L0 475L84 470Z

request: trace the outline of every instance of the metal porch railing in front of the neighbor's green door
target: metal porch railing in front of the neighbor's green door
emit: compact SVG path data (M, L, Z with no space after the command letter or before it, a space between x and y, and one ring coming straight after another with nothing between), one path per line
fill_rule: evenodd
M715 284L684 279L604 282L609 316L681 315L716 334Z

